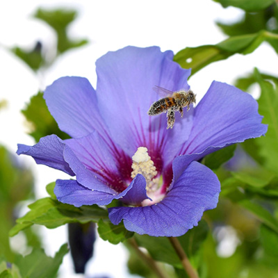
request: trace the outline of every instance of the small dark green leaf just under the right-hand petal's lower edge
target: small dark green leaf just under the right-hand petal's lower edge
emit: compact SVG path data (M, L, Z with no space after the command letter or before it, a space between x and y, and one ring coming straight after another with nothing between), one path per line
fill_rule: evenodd
M235 149L236 145L224 147L224 149L220 149L217 152L213 152L212 154L205 156L202 163L204 163L204 165L208 168L211 168L211 170L216 170L223 163L229 161L229 159L234 156Z

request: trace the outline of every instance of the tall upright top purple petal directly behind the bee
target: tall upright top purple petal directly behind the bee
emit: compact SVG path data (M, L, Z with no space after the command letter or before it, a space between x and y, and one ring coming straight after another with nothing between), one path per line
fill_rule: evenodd
M182 120L177 115L174 129L169 131L164 113L154 117L147 113L160 99L153 90L155 85L172 91L189 88L190 70L181 69L172 58L172 51L162 53L158 47L125 47L97 60L99 110L113 139L129 156L144 146L165 165L177 154L192 126L185 113Z

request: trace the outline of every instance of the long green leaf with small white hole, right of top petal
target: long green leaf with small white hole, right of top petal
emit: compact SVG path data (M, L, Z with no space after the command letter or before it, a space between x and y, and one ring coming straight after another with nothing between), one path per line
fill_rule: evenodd
M186 47L174 56L174 61L181 67L191 68L193 75L206 65L227 59L234 54L250 54L264 41L269 42L278 54L278 35L260 31L255 34L234 36L215 45Z

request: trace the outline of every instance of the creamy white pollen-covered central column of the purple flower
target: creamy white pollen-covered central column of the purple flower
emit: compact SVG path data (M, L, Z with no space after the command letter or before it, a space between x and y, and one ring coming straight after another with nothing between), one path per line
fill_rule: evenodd
M131 178L134 179L136 174L142 174L147 182L146 189L148 192L154 192L158 189L158 178L156 166L154 166L154 161L148 154L148 149L146 147L138 147L134 156L132 156L132 169Z

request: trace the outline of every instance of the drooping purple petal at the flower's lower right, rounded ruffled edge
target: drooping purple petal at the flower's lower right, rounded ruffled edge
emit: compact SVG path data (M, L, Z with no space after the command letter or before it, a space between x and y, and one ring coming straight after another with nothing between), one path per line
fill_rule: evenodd
M181 236L197 226L204 211L215 208L219 193L216 175L194 161L161 202L136 208L108 208L109 218L113 224L124 220L126 229L138 234Z

